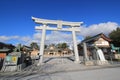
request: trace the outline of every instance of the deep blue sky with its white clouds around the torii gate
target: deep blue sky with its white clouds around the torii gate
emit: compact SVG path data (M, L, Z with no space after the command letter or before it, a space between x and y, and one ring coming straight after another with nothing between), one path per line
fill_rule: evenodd
M35 31L31 16L84 22L77 34L80 41L81 36L109 34L120 26L120 0L0 0L0 41L13 44L39 41L41 33ZM47 33L48 42L56 33L64 40L72 40L70 33Z

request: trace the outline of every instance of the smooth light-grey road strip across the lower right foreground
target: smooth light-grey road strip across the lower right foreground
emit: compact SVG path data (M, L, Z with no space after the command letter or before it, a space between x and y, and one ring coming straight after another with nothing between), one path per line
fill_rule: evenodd
M21 80L119 80L120 68L36 74Z

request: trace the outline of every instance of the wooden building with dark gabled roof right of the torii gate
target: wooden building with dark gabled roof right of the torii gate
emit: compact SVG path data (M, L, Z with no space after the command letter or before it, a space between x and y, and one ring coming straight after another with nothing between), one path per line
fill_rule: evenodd
M82 50L82 43L85 42L87 44L88 52L90 53L91 46L96 46L100 49L102 49L104 54L108 54L111 50L111 39L108 38L106 35L103 33L97 34L93 37L90 37L88 39L83 40L79 45L78 45L78 51L81 54ZM83 52L82 52L83 53Z

